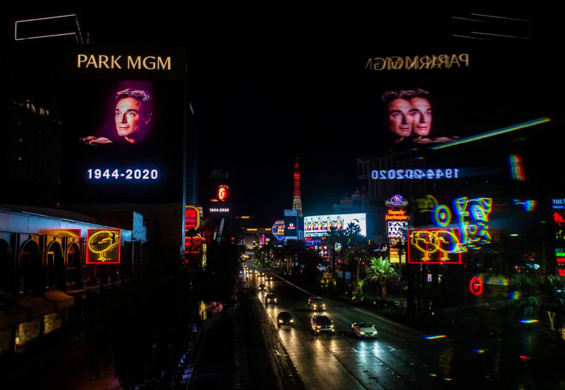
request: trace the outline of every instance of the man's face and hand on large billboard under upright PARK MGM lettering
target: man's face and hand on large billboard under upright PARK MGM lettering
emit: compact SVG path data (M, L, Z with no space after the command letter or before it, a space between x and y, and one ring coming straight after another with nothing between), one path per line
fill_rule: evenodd
M129 144L141 142L150 131L151 122L151 95L144 90L127 88L118 91L115 96L114 124L119 138ZM114 143L106 137L80 138L90 146Z

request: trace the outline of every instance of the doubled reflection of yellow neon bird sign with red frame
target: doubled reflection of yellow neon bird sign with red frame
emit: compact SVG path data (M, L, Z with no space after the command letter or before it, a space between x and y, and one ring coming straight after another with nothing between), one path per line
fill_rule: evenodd
M408 229L408 263L460 264L466 251L459 229Z

